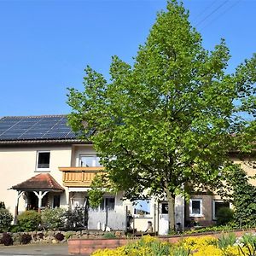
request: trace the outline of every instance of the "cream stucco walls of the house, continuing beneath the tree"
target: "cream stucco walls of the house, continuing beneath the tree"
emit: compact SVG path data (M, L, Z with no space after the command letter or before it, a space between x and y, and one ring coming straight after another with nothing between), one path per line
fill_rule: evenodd
M38 152L49 152L49 168L47 170L38 170ZM96 156L96 151L91 144L12 144L0 145L0 201L4 201L9 211L15 215L15 207L17 203L17 191L10 189L12 186L22 183L39 173L49 173L55 178L64 191L60 196L60 207L84 206L84 202L88 200L88 190L90 187L84 186L65 186L63 183L63 173L60 167L79 167L81 165L80 157ZM246 161L241 162L239 158L233 157L232 160L240 163L242 168L251 176L255 171L247 164ZM255 182L251 180L255 185ZM49 207L53 206L53 193L48 194ZM168 218L164 211L166 201L157 201L154 198L148 198L146 201L131 202L122 199L122 192L116 195L106 193L104 198L112 198L114 207L106 212L104 207L99 209L90 209L88 212L88 228L96 230L102 226L108 226L113 230L125 230L127 224L127 216L132 216L131 228L137 231L145 231L148 222L152 223L153 231L160 232L165 235L168 232ZM200 202L201 216L192 216L191 202L185 202L183 197L177 196L175 200L175 222L183 228L185 220L195 219L201 224L212 224L214 221L215 202L221 201L216 195L192 195L191 200ZM139 206L139 207L138 207ZM27 207L26 196L21 195L19 199L19 212L25 211ZM141 208L140 208L141 207ZM213 212L213 213L212 213Z

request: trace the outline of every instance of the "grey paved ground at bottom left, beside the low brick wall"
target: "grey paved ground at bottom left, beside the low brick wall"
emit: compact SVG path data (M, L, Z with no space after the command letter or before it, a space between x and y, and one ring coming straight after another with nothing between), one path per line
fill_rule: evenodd
M50 256L67 256L67 243L59 244L28 244L4 247L0 246L0 255L50 255Z

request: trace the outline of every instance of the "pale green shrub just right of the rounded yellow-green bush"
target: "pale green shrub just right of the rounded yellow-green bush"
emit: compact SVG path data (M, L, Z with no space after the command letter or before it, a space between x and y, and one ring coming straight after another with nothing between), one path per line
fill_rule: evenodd
M47 230L64 227L66 210L62 208L44 209L41 212L42 224Z

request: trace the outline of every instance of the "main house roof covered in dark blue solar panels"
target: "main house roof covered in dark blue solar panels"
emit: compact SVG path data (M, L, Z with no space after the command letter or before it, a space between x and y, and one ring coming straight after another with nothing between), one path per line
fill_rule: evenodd
M67 115L7 116L0 119L0 144L80 142Z

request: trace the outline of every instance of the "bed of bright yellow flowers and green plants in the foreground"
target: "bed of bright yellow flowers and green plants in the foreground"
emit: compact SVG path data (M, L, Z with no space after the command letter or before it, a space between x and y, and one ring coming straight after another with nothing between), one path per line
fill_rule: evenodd
M222 234L219 237L187 237L171 243L160 241L155 237L143 236L138 241L116 249L98 249L94 256L254 256L256 255L256 234L245 233L236 237L234 233Z

